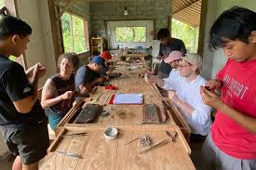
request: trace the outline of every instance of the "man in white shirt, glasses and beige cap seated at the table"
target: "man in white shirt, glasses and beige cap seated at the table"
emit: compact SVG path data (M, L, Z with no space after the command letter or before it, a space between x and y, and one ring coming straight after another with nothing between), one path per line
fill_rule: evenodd
M187 53L179 60L179 76L168 85L168 98L177 106L191 128L191 140L202 141L209 134L211 108L203 103L200 86L206 79L200 75L201 57Z

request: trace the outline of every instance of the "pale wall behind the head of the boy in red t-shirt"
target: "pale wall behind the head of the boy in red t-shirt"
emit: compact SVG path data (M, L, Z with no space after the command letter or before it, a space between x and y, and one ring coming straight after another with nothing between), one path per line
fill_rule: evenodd
M214 20L222 13L222 11L234 7L247 7L253 11L256 11L256 1L251 0L209 0L208 1L208 12L206 19L205 28L205 39L204 39L204 61L203 61L203 75L207 78L215 77L216 73L223 67L226 62L226 57L223 54L222 49L211 52L208 49L209 42L209 29L213 24Z

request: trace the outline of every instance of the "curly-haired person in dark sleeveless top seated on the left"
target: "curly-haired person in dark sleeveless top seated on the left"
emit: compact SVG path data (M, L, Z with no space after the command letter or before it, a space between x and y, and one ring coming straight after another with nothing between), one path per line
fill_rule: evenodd
M47 79L42 91L41 105L45 108L52 130L72 107L74 101L74 72L79 59L74 53L61 54L58 60L59 73Z

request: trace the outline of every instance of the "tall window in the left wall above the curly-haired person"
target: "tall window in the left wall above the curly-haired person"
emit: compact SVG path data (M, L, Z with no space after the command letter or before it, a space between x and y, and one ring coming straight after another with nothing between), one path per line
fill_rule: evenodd
M61 17L64 51L82 53L89 50L88 21L65 12Z

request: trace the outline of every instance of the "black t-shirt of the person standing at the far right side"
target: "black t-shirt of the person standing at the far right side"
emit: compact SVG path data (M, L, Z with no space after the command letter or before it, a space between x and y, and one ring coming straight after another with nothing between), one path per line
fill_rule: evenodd
M160 44L159 56L168 57L169 53L172 51L181 51L183 54L186 53L186 48L182 40L173 38L171 44L169 45ZM170 65L168 63L165 63L164 60L162 60L160 72L168 75L170 71Z

